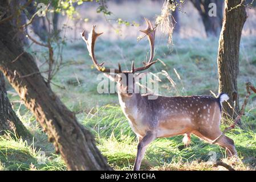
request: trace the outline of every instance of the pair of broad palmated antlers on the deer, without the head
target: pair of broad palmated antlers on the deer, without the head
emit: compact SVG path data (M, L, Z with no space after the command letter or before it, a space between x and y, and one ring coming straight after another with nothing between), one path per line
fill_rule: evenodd
M147 18L145 18L145 20L148 24L148 28L146 30L140 30L140 31L144 32L148 36L148 40L149 40L149 43L151 45L151 56L150 56L148 62L144 63L144 66L140 67L140 68L135 68L134 63L132 61L132 70L131 71L121 71L120 64L119 64L119 69L108 69L108 68L102 67L103 64L104 64L104 61L101 64L97 63L95 53L94 53L94 46L95 46L95 41L96 41L97 37L100 36L103 33L99 33L99 34L96 33L95 32L95 27L96 26L92 26L92 30L91 30L90 34L88 34L88 38L86 38L86 36L85 36L85 30L81 33L84 42L86 42L87 49L88 49L89 54L92 58L92 62L94 63L94 65L95 65L95 67L98 71L107 72L107 73L109 73L111 71L113 71L115 73L135 73L135 72L138 72L138 71L143 71L145 69L148 69L149 67L151 67L151 65L153 65L157 62L157 61L152 61L153 57L154 57L154 51L155 51L156 30L155 30L155 28L153 28L151 22Z

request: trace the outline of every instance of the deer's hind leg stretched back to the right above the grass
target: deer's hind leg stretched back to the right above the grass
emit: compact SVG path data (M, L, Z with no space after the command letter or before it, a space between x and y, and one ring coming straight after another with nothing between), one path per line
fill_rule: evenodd
M193 132L194 135L196 135L198 138L201 138L203 140L206 140L209 143L212 143L213 140L215 140L216 138L220 137L220 135L222 134L221 131L219 130L218 132L214 131L214 130L208 130L208 131L194 131ZM216 144L218 144L219 146L225 148L227 155L229 156L234 156L237 155L237 151L235 150L235 146L234 146L234 141L229 138L226 137L226 135L223 135L218 142L216 142Z

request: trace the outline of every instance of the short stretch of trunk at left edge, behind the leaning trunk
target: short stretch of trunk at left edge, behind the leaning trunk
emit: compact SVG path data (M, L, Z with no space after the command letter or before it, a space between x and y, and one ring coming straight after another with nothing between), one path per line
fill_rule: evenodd
M0 72L0 135L5 134L5 131L11 131L11 133L18 135L18 137L31 138L29 131L27 131L11 108L5 89L5 78L3 73Z

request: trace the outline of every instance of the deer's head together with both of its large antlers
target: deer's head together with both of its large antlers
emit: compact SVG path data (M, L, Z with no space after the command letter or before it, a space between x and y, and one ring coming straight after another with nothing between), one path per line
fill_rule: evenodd
M115 69L115 68L109 69L109 68L103 67L104 61L100 64L97 62L95 57L95 52L94 52L95 42L97 37L103 33L99 33L99 34L96 33L95 32L96 26L92 26L92 30L88 35L88 38L86 38L85 30L81 33L84 42L86 42L87 49L92 58L92 62L95 65L95 68L98 71L105 73L104 75L107 76L110 80L116 81L118 92L128 97L131 97L132 93L134 93L135 91L135 80L137 76L139 76L139 73L136 74L136 72L144 71L157 62L157 61L153 61L154 52L155 52L156 30L155 28L153 28L151 22L147 18L145 18L145 21L148 27L146 30L140 30L140 31L145 33L148 37L148 40L151 46L151 54L150 54L149 60L147 62L143 62L144 64L143 67L135 68L134 62L132 61L131 71L122 71L120 64L118 64L118 67L119 67L118 69Z

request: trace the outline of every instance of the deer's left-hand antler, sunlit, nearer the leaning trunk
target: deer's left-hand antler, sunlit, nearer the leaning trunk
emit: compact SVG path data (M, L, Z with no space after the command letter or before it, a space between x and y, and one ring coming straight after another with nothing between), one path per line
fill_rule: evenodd
M110 69L102 67L102 65L104 64L104 61L101 64L97 63L97 60L96 60L96 57L95 57L95 54L94 54L95 41L96 41L98 36L103 34L103 33L99 33L99 34L96 33L95 30L94 30L95 27L96 27L95 25L92 26L92 30L91 30L90 34L88 34L87 39L86 39L86 36L85 36L85 32L86 32L85 30L81 33L81 36L82 36L84 42L86 42L86 46L87 46L87 49L89 51L89 55L91 56L92 62L94 63L96 69L100 72L108 72L109 73L111 71ZM121 71L120 65L119 65L119 69L113 69L113 71L115 73L120 73L120 71Z

